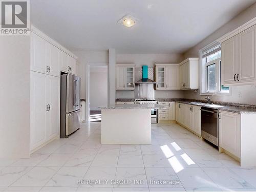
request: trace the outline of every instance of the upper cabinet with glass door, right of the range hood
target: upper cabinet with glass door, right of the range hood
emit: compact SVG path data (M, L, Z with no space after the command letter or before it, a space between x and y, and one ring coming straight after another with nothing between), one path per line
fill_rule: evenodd
M179 64L156 64L155 68L156 90L180 89Z

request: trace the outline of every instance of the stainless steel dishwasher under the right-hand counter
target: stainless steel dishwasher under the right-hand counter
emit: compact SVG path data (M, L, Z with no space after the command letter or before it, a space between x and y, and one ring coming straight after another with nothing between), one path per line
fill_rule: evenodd
M202 106L201 111L202 138L219 146L219 110Z

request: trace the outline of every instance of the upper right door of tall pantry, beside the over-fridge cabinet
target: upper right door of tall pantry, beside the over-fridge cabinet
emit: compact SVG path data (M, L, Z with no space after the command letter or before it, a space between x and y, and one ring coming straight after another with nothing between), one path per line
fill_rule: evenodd
M49 74L59 77L60 76L60 50L53 46L49 45L49 65L50 70Z

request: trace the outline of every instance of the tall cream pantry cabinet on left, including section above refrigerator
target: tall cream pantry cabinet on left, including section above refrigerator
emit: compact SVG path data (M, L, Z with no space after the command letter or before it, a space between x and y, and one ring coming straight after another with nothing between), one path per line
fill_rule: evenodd
M60 70L75 74L76 58L34 27L30 49L30 152L34 152L59 137Z

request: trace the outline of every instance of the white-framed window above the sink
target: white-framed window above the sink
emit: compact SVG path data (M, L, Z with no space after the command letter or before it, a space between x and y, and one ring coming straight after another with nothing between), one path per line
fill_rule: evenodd
M221 84L221 45L201 51L201 94L228 94Z

